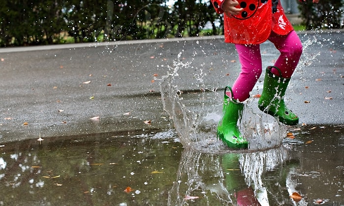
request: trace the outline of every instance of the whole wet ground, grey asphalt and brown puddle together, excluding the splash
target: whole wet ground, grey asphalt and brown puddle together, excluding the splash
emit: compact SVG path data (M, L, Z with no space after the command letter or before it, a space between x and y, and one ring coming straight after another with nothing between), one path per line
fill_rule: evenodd
M187 107L221 105L203 91L221 95L240 68L221 36L0 49L0 204L232 205L254 191L262 205L343 205L343 31L299 35L295 138L248 153L184 149L163 110L177 59ZM263 67L278 57L269 42L261 52Z

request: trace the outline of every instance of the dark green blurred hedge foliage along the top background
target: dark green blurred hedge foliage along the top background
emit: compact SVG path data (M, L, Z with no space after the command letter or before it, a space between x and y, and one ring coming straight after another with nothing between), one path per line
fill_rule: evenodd
M296 0L297 1L297 0ZM0 47L223 33L210 0L0 0ZM344 0L299 4L302 25L341 29Z

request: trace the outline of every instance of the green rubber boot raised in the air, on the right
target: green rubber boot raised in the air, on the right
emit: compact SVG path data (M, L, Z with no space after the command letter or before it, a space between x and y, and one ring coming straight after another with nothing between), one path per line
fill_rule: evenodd
M279 77L271 72L272 68L279 71ZM289 81L290 78L282 77L279 68L268 66L265 73L263 92L258 101L258 108L264 113L279 118L279 121L284 124L296 125L299 123L299 118L287 108L283 99Z

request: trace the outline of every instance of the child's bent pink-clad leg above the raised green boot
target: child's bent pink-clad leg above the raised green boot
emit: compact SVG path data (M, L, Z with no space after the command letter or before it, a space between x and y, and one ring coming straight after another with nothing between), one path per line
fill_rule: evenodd
M282 71L283 78L290 78L302 54L302 44L299 37L295 31L284 36L271 32L269 41L281 52L274 66ZM277 71L272 70L272 72L279 75Z

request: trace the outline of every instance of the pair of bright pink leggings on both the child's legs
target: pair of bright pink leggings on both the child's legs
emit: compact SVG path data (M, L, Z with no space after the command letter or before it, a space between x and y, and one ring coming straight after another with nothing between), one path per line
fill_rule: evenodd
M282 72L283 78L290 78L294 72L302 54L302 44L295 31L287 35L279 35L271 32L268 38L281 55L274 66ZM245 101L250 97L250 91L255 87L262 72L259 44L235 44L241 63L241 72L232 87L233 98ZM277 71L271 71L279 75ZM277 73L276 73L277 72Z

